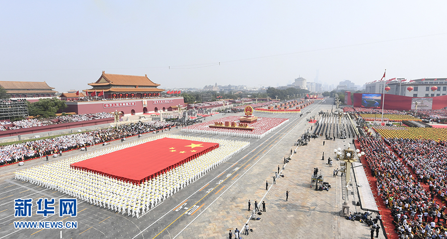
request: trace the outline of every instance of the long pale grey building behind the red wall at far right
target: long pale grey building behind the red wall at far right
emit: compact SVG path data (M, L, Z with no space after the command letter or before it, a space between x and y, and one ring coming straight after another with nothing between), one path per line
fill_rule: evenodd
M383 81L368 82L365 84L365 93L382 94ZM410 97L435 97L447 94L447 78L424 78L416 80L392 80L385 87L390 90L385 94L402 95ZM436 88L433 88L436 86ZM408 90L409 87L413 89Z

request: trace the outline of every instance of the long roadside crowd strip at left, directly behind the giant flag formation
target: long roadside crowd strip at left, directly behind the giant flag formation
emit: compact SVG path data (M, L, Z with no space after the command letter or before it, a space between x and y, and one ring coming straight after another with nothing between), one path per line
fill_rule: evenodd
M119 128L104 128L83 133L63 135L0 147L0 166L45 155L79 149L93 144L108 142L133 135L174 126L164 121L145 121L120 125Z

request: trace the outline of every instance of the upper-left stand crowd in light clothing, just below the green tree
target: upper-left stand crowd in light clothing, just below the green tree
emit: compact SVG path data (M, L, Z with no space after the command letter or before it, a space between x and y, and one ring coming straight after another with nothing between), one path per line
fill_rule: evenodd
M66 116L58 116L52 119L22 119L17 121L9 121L4 120L0 122L0 130L13 130L19 128L31 128L31 127L39 127L46 126L50 124L57 123L69 123L69 122L79 122L86 121L92 119L106 119L113 118L113 115L106 112L94 113L94 114L83 114L83 115L66 115Z

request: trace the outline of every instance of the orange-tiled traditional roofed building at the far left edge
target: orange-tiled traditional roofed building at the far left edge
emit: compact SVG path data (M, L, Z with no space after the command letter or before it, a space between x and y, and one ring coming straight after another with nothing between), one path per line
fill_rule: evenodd
M58 93L44 82L34 81L0 81L0 86L11 98L55 97Z

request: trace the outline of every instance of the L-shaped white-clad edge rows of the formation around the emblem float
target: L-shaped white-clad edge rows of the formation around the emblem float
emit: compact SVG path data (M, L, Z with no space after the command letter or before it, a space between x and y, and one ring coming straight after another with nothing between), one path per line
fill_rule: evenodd
M289 119L286 119L285 121L281 122L275 127L272 127L270 129L264 130L256 130L256 127L252 131L245 131L243 129L229 129L229 128L210 128L207 126L207 128L201 127L199 125L190 125L187 127L182 128L182 132L187 133L203 133L203 134L217 134L217 135L224 135L224 136L233 136L233 137L244 137L244 138L262 138L268 133L272 132L273 130L277 129L278 127L281 127L283 124L287 123Z

